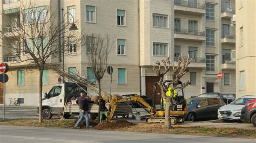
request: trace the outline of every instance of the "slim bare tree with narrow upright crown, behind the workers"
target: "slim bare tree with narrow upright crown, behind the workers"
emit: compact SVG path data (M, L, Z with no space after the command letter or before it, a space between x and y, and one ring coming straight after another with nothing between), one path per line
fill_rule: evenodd
M101 96L100 80L102 80L106 68L107 58L113 50L113 41L111 41L109 35L86 35L86 55L92 67L92 71L95 74L95 78L98 82L99 96ZM100 98L99 98L99 111L98 111L98 123L100 119Z

